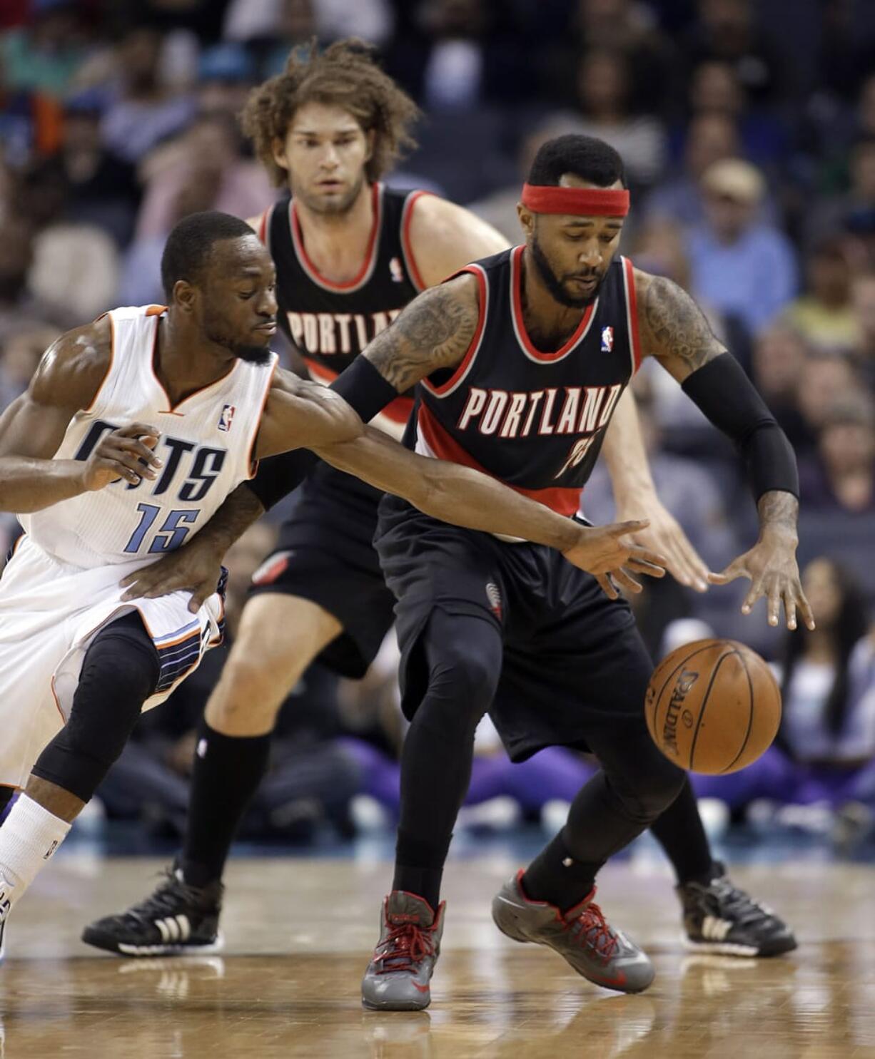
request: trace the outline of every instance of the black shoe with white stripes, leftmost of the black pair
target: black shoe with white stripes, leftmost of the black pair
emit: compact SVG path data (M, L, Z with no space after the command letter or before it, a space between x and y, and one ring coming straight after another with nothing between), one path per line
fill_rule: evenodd
M82 939L122 956L218 952L222 889L220 882L190 886L174 865L154 894L121 915L97 919L85 928Z

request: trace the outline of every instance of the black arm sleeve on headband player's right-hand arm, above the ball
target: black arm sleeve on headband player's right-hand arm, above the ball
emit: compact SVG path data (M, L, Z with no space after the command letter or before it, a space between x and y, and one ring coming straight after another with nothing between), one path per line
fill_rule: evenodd
M799 497L792 446L734 357L720 354L688 375L681 387L738 446L754 500L773 489Z

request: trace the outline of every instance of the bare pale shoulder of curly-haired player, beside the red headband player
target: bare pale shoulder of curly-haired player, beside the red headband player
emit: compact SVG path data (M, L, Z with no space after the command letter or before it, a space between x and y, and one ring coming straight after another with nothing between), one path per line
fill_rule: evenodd
M411 207L409 251L423 287L436 287L470 262L508 246L492 225L438 195L422 195Z

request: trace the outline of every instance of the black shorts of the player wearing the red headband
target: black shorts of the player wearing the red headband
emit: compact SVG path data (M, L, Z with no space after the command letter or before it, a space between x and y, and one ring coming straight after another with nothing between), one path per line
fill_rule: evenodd
M439 522L403 500L380 504L375 544L397 597L401 704L411 717L426 690L415 650L434 609L490 622L504 642L489 715L511 758L544 747L586 750L588 736L644 728L653 671L631 611L590 574L540 544L507 543Z

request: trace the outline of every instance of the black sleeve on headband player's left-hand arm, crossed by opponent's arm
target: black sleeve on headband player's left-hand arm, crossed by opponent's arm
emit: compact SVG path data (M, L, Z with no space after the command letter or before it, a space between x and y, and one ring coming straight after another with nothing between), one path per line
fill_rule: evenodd
M367 357L356 357L329 389L340 394L363 423L373 419L398 396L398 391ZM307 449L294 449L278 456L268 456L267 460L262 460L255 477L246 485L258 498L264 509L268 510L296 489L318 463L319 456Z

